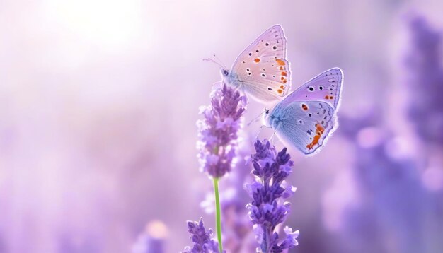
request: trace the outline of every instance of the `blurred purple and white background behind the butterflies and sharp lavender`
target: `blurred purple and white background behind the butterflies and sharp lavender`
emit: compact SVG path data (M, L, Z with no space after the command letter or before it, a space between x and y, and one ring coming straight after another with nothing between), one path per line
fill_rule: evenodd
M179 252L186 220L214 228L195 122L220 77L202 59L230 66L275 23L293 88L345 73L326 148L289 149L293 252L443 252L442 12L437 0L0 1L0 252ZM251 101L246 122L262 111ZM243 132L248 150L258 124ZM238 206L244 170L222 182ZM229 210L226 224L246 215Z

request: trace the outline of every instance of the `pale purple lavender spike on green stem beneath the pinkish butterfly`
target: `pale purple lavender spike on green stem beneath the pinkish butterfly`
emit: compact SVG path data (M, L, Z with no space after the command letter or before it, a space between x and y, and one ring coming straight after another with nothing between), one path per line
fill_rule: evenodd
M211 105L202 107L205 119L197 121L198 158L202 171L214 178L231 171L245 99L234 88L224 85L214 91Z

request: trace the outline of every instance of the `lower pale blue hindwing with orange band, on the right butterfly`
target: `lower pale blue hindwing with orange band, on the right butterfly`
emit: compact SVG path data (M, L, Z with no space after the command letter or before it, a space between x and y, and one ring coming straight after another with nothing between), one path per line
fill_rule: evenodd
M277 136L305 155L320 151L338 127L335 109L321 101L296 101L287 105L280 102L269 119L274 121L270 125L275 128Z

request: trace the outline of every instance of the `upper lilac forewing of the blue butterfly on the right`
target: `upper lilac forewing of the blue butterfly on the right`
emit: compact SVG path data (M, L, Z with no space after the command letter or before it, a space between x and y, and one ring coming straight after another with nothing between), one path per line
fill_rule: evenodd
M322 101L330 104L335 110L340 106L343 71L339 68L329 69L294 90L282 102Z

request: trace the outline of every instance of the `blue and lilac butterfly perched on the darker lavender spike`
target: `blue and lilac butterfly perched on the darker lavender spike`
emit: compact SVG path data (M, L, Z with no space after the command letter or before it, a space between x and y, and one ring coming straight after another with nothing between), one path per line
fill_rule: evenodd
M337 111L343 71L329 69L287 95L272 110L265 110L265 125L285 144L305 155L315 154L338 127Z

